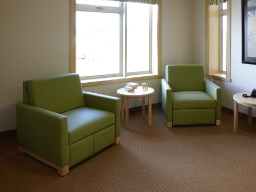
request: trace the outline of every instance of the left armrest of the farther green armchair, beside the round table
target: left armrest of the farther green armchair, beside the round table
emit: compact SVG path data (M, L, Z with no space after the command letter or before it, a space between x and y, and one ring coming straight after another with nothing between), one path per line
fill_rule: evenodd
M172 122L172 89L166 79L162 79L162 107L167 122Z

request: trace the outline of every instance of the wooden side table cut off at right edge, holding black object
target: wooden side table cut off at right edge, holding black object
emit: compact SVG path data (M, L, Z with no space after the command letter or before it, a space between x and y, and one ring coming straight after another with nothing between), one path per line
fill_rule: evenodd
M233 95L234 99L234 133L238 132L238 103L248 106L248 126L252 127L252 108L256 109L256 98L244 98L242 95L251 93L236 93Z

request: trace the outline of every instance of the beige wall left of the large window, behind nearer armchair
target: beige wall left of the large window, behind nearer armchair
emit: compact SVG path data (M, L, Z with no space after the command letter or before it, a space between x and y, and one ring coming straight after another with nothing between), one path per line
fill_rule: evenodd
M0 1L0 132L16 129L22 81L69 72L69 1Z

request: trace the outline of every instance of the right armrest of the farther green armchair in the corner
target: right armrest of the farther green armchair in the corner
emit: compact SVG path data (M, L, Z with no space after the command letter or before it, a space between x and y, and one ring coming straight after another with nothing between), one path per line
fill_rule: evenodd
M216 119L221 120L221 88L205 79L205 92L216 100Z

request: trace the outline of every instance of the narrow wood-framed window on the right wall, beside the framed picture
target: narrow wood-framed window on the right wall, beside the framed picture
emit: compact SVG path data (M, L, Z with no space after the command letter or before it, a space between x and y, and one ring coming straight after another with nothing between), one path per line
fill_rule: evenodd
M231 1L210 6L208 3L209 1L206 1L205 76L231 82Z

